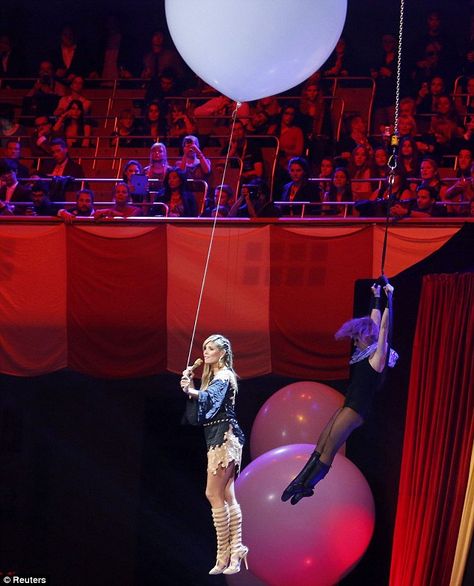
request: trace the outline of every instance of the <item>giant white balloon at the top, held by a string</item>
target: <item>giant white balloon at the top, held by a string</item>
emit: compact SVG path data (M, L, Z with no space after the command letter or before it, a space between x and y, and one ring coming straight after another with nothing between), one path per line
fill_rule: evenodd
M240 102L286 91L326 61L347 0L166 0L171 37L204 81Z

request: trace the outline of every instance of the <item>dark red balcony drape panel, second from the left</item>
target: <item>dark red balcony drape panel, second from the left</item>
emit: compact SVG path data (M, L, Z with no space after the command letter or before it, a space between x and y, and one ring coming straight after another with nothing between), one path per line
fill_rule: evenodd
M68 230L71 368L105 377L166 369L165 228Z

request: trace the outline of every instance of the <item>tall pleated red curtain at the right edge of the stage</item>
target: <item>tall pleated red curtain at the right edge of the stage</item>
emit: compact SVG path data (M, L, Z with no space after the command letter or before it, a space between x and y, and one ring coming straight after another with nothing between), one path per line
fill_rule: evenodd
M427 275L413 347L390 586L447 586L474 438L474 274Z

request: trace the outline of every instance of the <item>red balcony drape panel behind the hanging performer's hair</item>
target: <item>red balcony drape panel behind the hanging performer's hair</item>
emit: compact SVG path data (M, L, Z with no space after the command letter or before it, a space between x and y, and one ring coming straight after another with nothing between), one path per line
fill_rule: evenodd
M334 333L352 317L354 281L372 271L372 230L282 229L271 233L273 371L328 380L348 374L348 345ZM368 308L367 308L368 311Z

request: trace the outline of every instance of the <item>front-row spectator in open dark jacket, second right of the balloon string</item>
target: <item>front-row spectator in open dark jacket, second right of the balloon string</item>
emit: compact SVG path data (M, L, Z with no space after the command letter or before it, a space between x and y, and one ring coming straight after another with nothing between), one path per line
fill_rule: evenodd
M321 195L316 183L309 181L309 165L303 157L293 157L288 163L288 173L291 181L283 186L282 193L278 201L285 202L320 202ZM300 216L301 206L284 206L281 210L282 215ZM306 215L320 213L319 206L307 206Z

